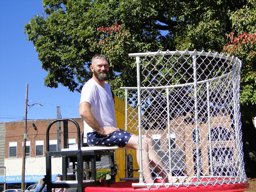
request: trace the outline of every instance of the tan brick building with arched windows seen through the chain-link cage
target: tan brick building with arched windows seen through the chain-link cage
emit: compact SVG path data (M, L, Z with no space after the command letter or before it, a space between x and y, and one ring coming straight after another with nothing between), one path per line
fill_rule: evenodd
M196 175L196 156L199 159L202 175L211 173L229 175L227 167L237 161L236 133L232 128L232 119L226 114L219 114L210 122L199 121L198 133L196 133L196 124L186 119L181 116L171 120L170 133L166 125L163 128L142 129L142 135L153 139L158 155L166 161L166 166L169 164L168 149L171 148L172 171L178 172L178 175ZM196 154L197 139L198 154Z

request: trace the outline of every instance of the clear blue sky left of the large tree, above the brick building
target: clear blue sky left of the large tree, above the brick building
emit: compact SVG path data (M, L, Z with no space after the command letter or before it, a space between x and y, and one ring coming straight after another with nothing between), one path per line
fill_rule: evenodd
M42 0L0 0L0 122L24 119L26 84L28 104L40 103L28 111L28 119L80 117L80 93L67 87L44 86L47 72L41 69L33 43L26 40L24 25L42 14ZM34 102L33 102L34 101Z

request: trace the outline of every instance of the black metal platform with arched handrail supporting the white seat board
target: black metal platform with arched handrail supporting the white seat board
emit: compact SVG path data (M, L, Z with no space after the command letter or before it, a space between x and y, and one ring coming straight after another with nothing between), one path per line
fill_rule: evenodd
M49 151L49 131L54 123L60 121L71 121L77 127L77 148L62 149L62 151ZM83 188L88 186L99 185L100 181L96 181L96 162L101 161L101 156L109 156L110 158L110 179L106 183L115 182L116 165L113 149L119 147L81 147L80 127L73 119L64 118L53 121L46 131L46 175L45 182L47 192L51 192L52 188L77 188L78 192L82 192ZM62 158L62 180L61 182L52 182L52 158ZM73 174L77 180L67 180L68 162L73 164ZM85 167L83 166L85 163ZM91 164L91 167L89 165ZM84 169L85 168L85 169ZM84 172L85 171L85 172ZM91 178L91 179L89 179ZM85 180L84 180L85 179Z

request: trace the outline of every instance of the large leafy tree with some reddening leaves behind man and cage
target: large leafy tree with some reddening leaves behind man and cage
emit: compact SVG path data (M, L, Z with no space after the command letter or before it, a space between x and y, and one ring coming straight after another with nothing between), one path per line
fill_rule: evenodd
M246 119L255 116L253 0L43 0L43 6L44 14L25 25L25 34L48 72L45 86L62 84L80 92L91 78L92 56L104 53L111 69L108 82L124 98L119 87L136 86L128 53L225 51L243 61L241 112Z

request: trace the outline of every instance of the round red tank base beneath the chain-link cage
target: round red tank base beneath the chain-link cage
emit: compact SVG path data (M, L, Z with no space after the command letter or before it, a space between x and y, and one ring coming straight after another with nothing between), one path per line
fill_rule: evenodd
M105 180L106 182L106 180ZM198 185L197 187L194 185L191 186L170 186L168 188L166 187L151 187L148 189L147 187L132 187L132 183L138 183L138 181L121 181L121 182L115 182L115 183L109 183L106 184L104 181L100 181L100 185L90 186L86 187L84 189L84 192L146 192L147 190L150 190L150 192L243 192L244 190L249 188L249 183L231 183L231 184L215 184L214 186L212 184L208 184L206 186L204 185ZM102 185L102 183L104 185Z

